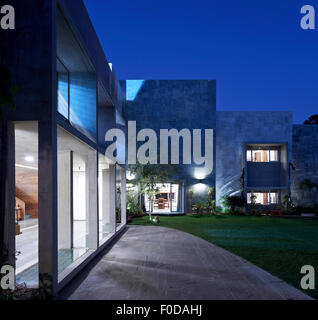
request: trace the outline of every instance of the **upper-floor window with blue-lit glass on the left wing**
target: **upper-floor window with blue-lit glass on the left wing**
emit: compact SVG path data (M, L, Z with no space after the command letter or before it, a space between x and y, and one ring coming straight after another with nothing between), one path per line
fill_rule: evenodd
M60 10L57 11L56 38L57 110L95 142L96 71Z

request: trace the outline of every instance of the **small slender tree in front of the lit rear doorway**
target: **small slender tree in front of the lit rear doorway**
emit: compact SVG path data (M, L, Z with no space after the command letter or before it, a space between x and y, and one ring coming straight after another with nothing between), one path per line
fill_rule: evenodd
M171 181L175 174L175 167L172 165L152 165L152 164L137 164L129 166L128 170L134 176L130 182L139 186L140 193L149 197L149 220L151 221L151 214L153 212L153 201L156 194L160 192L157 187L158 183L167 183ZM176 180L174 180L175 182Z

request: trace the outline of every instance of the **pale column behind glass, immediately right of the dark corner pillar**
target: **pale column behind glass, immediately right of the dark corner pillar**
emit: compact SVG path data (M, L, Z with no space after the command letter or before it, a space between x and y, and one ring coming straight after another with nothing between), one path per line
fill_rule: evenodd
M72 247L71 152L58 154L58 249Z

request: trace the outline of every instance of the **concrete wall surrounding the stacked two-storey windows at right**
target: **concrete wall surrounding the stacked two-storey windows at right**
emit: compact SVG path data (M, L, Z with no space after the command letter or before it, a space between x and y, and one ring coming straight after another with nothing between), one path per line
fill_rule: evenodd
M243 144L287 143L291 158L292 114L290 112L216 113L216 197L239 195Z

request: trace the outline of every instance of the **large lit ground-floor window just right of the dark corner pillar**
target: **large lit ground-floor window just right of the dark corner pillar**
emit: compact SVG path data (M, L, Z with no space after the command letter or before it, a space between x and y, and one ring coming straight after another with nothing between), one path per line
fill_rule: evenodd
M96 247L96 151L58 128L59 273Z

